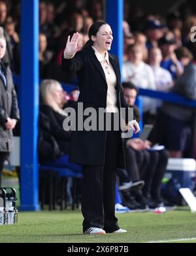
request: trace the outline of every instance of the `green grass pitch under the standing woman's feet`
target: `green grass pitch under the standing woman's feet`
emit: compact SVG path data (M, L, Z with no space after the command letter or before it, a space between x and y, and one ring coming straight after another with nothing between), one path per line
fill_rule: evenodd
M196 213L188 207L116 216L127 233L84 236L78 210L19 212L18 223L0 226L0 243L196 242Z

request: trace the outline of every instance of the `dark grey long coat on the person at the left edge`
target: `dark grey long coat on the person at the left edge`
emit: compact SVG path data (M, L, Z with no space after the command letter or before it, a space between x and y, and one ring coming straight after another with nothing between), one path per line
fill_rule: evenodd
M7 77L7 86L5 87L0 77L0 152L10 152L12 150L12 131L5 127L7 117L19 119L18 101L12 73L7 64L1 64L5 76Z

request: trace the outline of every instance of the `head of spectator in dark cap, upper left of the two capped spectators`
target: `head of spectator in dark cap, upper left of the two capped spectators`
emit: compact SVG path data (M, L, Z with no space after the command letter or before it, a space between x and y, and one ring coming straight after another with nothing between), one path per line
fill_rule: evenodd
M153 46L157 46L157 43L161 37L163 37L164 25L157 19L147 20L144 26L144 33L148 39L146 43L147 49Z

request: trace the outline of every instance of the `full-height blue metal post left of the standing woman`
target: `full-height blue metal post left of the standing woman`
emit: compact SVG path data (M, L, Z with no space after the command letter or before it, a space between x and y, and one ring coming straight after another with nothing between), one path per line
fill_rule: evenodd
M39 116L39 0L21 1L21 205L39 210L37 137Z

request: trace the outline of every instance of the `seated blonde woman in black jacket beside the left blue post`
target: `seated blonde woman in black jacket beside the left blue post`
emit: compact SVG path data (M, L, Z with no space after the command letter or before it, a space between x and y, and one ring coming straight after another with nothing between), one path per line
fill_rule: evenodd
M39 160L45 165L81 171L82 167L68 161L71 131L63 129L65 116L62 105L65 103L65 95L60 83L52 79L44 80L40 93Z

